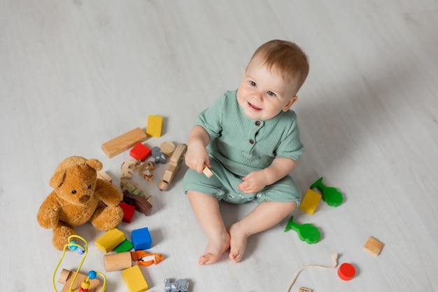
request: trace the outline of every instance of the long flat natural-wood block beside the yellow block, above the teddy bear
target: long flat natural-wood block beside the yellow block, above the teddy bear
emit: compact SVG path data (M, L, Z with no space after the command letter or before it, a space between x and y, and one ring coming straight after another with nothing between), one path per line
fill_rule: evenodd
M108 158L112 158L132 148L135 144L145 141L147 137L143 130L136 127L134 130L121 134L119 137L115 137L102 144L102 151L104 151Z

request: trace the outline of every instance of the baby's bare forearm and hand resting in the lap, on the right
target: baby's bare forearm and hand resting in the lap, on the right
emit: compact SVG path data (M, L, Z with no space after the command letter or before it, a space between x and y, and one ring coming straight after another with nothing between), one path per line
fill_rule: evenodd
M243 177L243 183L239 183L237 188L246 194L257 193L265 186L269 186L279 179L283 179L283 177L292 172L295 165L297 165L297 161L291 158L275 158L269 167L250 172Z

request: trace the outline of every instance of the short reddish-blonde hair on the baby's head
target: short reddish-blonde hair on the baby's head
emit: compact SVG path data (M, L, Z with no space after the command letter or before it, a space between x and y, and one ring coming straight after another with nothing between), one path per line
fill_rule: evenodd
M299 46L291 41L272 40L262 44L251 57L262 60L269 70L278 70L284 81L297 80L297 90L301 88L309 74L309 61ZM248 63L249 64L249 63Z

